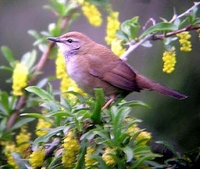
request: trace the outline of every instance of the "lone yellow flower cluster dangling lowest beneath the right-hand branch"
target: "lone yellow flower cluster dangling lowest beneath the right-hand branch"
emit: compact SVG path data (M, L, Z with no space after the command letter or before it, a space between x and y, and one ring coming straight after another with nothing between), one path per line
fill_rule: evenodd
M172 73L176 64L175 48L173 47L171 51L165 51L162 60L164 62L163 72Z

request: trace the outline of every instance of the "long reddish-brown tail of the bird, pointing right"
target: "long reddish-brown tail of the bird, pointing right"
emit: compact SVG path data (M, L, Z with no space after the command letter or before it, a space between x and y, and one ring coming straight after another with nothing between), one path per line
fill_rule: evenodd
M181 94L175 90L169 89L165 86L160 85L159 83L156 83L147 77L144 77L142 75L137 75L137 84L142 89L148 89L148 90L154 90L158 93L161 93L163 95L167 95L176 99L186 99L187 96L184 94Z

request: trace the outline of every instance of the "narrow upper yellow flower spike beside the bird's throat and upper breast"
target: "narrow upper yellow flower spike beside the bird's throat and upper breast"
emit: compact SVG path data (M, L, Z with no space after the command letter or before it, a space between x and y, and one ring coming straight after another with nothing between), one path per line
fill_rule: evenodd
M58 79L62 79L66 76L66 63L65 58L62 55L61 51L58 50L57 58L56 58L56 77Z

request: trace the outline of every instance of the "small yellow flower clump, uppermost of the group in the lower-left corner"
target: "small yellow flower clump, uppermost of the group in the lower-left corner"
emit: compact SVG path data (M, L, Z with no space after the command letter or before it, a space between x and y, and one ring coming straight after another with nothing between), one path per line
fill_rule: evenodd
M44 119L39 119L38 120L38 123L37 123L37 126L36 126L36 135L37 136L43 136L45 134L48 133L48 130L45 130L45 129L48 129L52 126L52 124L48 121L45 121Z

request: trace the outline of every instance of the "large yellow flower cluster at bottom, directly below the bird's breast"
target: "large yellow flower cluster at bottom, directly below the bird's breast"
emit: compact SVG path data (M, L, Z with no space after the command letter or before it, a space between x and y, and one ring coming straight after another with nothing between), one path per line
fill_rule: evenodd
M74 138L72 131L65 136L63 142L62 163L64 167L72 168L80 149L78 141Z

